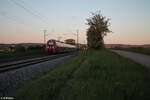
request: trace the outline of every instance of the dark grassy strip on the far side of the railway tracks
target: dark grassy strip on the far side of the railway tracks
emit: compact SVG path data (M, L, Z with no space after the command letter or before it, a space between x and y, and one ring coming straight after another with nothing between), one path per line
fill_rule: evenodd
M30 50L26 52L3 52L0 53L0 61L7 61L9 59L22 59L29 56L46 55L44 50Z

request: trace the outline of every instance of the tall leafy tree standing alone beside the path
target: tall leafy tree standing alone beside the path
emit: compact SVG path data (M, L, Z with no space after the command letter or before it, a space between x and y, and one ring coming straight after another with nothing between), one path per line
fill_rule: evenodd
M104 48L104 36L110 33L110 19L102 16L100 12L92 13L92 17L87 19L87 42L89 48L101 49Z

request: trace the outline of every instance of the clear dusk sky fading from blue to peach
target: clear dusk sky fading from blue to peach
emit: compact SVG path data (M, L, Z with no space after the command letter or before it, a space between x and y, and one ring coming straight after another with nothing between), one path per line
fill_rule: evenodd
M150 0L0 0L0 43L68 38L86 43L87 18L110 18L106 44L150 44Z

